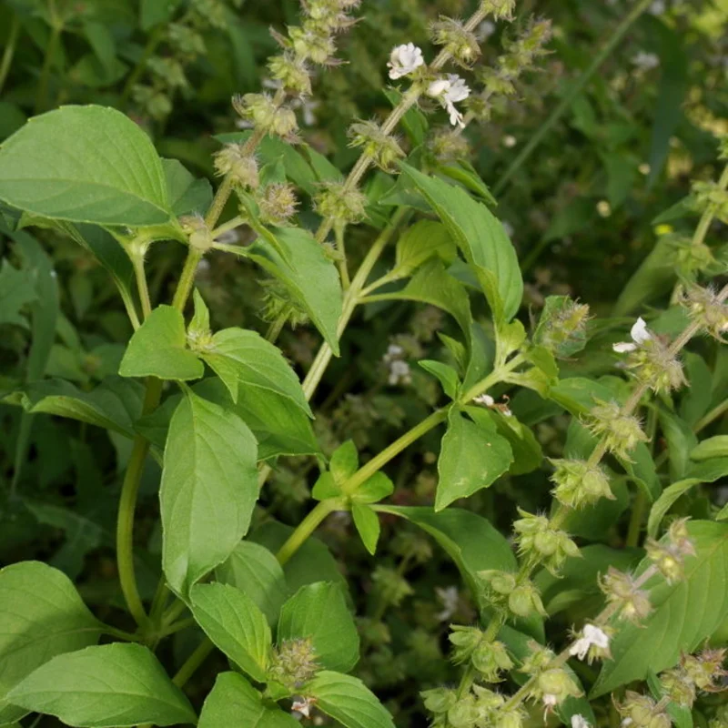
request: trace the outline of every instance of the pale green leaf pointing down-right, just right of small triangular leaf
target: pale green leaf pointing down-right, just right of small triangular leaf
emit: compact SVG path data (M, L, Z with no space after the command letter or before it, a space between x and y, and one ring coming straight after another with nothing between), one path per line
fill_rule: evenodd
M313 417L298 377L280 350L255 331L223 329L212 338L211 347L200 352L223 380L233 401L240 389L250 387L277 392Z

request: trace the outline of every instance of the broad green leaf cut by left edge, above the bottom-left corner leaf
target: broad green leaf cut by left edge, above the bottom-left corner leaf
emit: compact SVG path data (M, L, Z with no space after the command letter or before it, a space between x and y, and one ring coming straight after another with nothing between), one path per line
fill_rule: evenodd
M101 629L62 571L40 561L0 570L0 724L25 711L5 694L52 657L96 644Z

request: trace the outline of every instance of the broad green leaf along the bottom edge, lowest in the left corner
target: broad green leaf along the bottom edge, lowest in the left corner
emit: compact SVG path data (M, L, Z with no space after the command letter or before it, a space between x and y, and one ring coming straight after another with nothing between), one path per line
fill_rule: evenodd
M9 694L26 710L80 728L197 723L184 693L139 644L105 644L54 657Z

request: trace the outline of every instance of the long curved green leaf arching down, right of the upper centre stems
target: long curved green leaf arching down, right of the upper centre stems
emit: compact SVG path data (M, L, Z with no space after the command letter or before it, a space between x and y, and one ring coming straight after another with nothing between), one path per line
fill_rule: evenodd
M523 280L515 248L488 207L459 187L402 164L478 276L493 316L510 321L521 307Z

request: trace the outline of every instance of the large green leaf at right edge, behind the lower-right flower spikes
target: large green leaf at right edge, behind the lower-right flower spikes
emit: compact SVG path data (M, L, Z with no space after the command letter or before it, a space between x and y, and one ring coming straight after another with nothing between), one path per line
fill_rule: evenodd
M693 652L728 614L728 524L691 521L696 555L685 561L685 578L667 584L655 577L645 585L653 612L642 624L622 624L612 638L612 660L604 662L591 698L610 693L647 671L672 667L681 652ZM645 563L646 566L646 563Z

